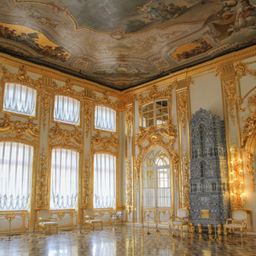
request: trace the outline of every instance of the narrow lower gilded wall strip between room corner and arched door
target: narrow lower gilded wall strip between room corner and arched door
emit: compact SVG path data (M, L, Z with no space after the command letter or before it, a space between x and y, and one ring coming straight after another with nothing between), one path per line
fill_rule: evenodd
M132 186L132 170L131 170L131 160L126 160L126 172L125 172L125 207L128 211L129 216L131 216L131 209L133 207L132 195L133 195L133 186Z

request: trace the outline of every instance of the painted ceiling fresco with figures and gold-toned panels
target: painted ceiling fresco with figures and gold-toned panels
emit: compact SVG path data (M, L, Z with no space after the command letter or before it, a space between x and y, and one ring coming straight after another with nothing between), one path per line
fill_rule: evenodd
M0 50L124 90L256 41L256 0L0 0Z

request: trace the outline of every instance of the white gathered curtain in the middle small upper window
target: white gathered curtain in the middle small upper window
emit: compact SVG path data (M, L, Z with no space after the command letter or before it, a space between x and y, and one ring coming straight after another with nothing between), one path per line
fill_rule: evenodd
M80 102L67 96L55 96L55 121L80 124Z

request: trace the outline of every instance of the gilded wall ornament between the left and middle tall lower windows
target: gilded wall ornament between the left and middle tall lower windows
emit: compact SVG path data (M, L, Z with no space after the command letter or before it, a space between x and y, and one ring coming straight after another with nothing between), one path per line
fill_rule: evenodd
M49 209L49 184L48 184L48 160L45 154L45 149L40 156L40 164L38 170L37 182L37 209Z

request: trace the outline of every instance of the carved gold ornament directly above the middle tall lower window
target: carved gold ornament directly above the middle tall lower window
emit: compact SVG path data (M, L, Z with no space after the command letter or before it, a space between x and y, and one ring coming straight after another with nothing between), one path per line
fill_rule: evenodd
M78 126L75 126L72 131L61 129L60 123L49 129L49 146L72 148L75 150L83 150L83 135Z

